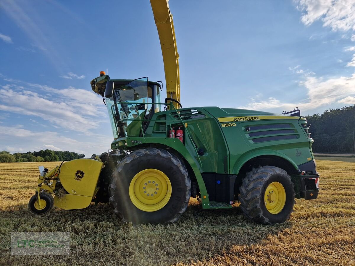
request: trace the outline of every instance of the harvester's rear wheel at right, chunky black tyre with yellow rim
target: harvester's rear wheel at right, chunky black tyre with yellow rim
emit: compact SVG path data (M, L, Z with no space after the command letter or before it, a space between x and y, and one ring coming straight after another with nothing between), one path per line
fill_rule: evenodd
M253 168L242 181L239 200L244 215L250 220L268 225L282 223L293 211L294 183L279 167Z

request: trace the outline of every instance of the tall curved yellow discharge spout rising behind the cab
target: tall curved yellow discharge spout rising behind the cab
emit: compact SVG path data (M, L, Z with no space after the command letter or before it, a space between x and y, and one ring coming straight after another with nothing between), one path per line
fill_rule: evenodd
M162 47L166 98L173 98L180 101L180 73L179 54L176 47L173 15L170 13L169 0L150 0L157 25L160 46ZM174 107L179 108L176 102L171 102Z

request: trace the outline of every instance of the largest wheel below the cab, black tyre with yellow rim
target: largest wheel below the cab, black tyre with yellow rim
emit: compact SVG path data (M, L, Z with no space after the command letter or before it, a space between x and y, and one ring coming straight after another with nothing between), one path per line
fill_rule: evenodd
M186 210L191 181L186 167L163 149L140 149L117 164L110 204L124 222L173 223Z

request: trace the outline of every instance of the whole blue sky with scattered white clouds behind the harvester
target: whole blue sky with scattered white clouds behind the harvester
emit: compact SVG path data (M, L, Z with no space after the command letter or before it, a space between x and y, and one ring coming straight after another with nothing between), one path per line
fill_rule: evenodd
M169 5L183 107L312 115L355 104L354 0ZM148 0L1 1L0 150L106 151L107 112L89 85L106 68L164 81Z

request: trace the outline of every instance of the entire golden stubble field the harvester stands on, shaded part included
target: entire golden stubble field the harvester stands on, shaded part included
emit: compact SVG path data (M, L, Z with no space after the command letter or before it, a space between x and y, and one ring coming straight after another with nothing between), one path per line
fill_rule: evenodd
M296 199L290 220L274 226L250 222L238 203L202 210L194 199L168 226L122 223L108 204L33 215L39 164L0 164L0 265L355 265L354 158L319 158L318 199ZM71 255L11 256L14 231L70 232Z

